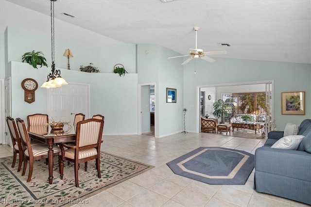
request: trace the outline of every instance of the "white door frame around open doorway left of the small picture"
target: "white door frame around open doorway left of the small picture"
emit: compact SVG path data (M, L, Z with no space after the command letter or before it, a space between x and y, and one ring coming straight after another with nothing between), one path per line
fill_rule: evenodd
M141 83L138 84L138 135L141 135L141 115L142 115L142 109L141 109L141 87L142 86L147 86L147 85L154 85L155 86L155 137L158 136L157 133L157 121L156 121L156 111L157 111L157 97L156 97L156 84L155 82L151 82L151 83Z

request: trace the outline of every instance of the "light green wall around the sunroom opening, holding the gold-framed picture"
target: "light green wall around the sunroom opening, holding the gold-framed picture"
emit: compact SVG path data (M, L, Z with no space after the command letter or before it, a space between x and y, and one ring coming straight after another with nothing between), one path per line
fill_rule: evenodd
M184 106L189 109L187 126L190 131L198 130L196 126L196 87L198 85L263 80L274 80L274 119L277 129L284 129L288 122L300 124L302 120L311 118L310 76L311 64L224 58L217 58L214 63L199 59L191 61L184 66ZM292 91L306 92L306 115L281 114L281 93Z

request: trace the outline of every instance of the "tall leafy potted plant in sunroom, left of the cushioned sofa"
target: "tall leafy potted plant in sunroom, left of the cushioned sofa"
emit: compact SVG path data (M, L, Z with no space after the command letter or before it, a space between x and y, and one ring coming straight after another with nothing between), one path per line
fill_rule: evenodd
M230 117L232 112L235 111L234 106L234 99L233 98L227 98L224 100L219 99L213 104L214 112L213 115L221 118L221 123L224 123L224 118Z

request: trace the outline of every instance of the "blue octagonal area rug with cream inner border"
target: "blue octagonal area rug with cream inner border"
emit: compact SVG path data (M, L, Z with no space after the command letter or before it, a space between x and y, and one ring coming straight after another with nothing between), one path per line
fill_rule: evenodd
M244 185L254 169L254 155L223 147L199 147L167 163L171 170L212 185Z

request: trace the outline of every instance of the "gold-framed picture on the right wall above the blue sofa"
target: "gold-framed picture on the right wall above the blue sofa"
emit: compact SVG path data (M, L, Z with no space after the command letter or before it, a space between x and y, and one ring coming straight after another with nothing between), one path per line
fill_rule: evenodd
M305 115L305 92L283 92L282 114Z

